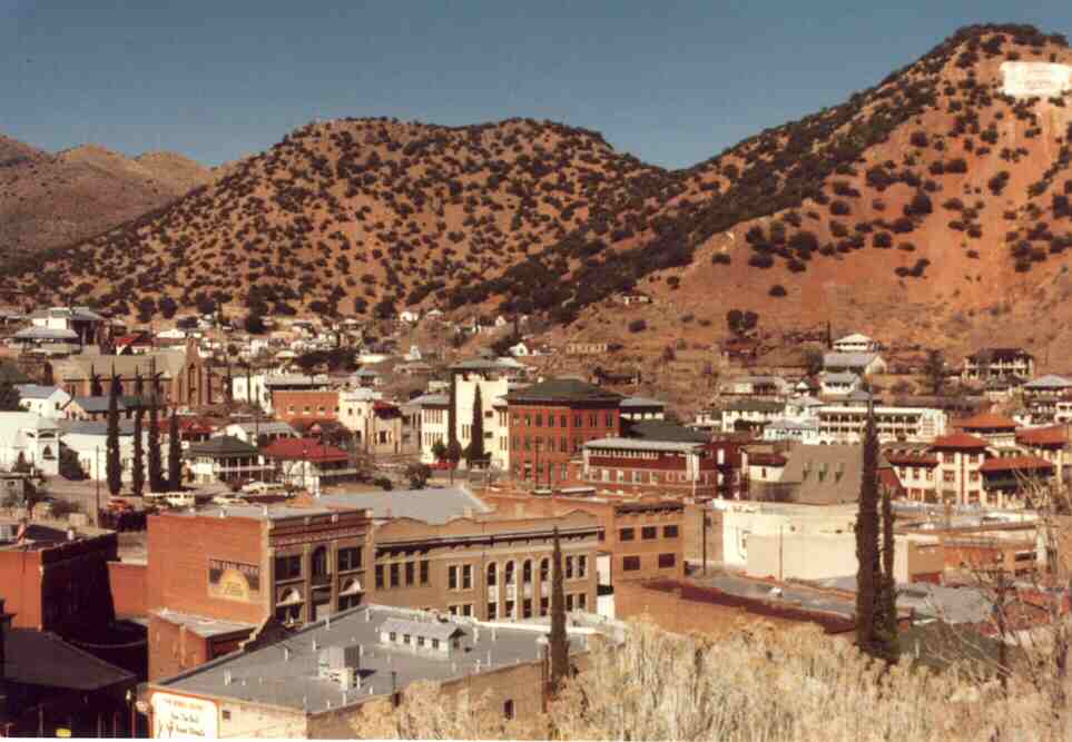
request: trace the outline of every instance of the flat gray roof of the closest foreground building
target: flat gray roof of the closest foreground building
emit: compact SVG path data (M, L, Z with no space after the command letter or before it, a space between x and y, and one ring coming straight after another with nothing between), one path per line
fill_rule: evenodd
M210 699L234 699L254 704L321 713L364 703L404 690L413 682L462 679L543 657L547 629L503 627L468 622L472 626L462 649L450 656L419 653L380 643L380 631L392 620L434 621L432 614L382 605L337 613L331 625L322 621L286 639L250 652L235 652L175 677L151 685ZM344 692L338 683L319 677L321 650L361 646L361 687ZM570 636L570 650L587 646L583 636ZM315 649L314 649L315 647ZM480 669L478 670L478 663Z

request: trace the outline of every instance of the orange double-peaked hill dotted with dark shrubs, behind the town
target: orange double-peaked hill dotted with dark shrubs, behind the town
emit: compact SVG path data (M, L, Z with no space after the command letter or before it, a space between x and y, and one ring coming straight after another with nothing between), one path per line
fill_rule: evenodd
M709 345L739 308L776 330L829 320L951 350L1060 353L1072 109L1066 93L1005 95L1010 61L1072 55L1031 27L962 29L845 103L680 171L549 122L312 125L17 273L142 318L214 303L534 310L650 356ZM608 310L633 288L656 298L630 313L649 327L637 335Z

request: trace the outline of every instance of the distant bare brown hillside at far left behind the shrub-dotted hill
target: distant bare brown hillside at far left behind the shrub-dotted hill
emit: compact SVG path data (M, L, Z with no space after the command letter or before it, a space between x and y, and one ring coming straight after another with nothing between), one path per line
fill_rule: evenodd
M87 145L50 155L0 136L0 255L85 240L210 178L208 168L168 152L131 159Z

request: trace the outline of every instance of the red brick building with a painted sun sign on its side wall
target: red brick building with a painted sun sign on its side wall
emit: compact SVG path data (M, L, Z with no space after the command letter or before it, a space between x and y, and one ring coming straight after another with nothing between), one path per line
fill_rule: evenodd
M226 507L148 521L149 676L233 651L269 616L302 624L365 593L364 511Z

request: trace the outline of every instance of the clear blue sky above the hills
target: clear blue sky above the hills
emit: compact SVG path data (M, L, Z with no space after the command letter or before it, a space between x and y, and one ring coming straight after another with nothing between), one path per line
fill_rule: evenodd
M0 133L206 165L313 119L511 117L688 167L843 102L971 23L1072 2L0 0Z

